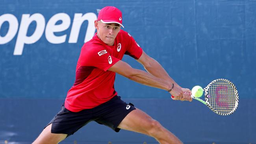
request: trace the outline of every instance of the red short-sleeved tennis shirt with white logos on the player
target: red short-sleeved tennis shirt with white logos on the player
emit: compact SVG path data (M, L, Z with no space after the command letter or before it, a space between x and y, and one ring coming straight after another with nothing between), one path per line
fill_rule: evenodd
M126 31L120 30L113 46L102 42L96 34L83 44L76 65L76 80L67 93L65 107L73 112L91 109L116 96L115 72L108 68L124 54L134 59L139 59L142 54L142 49Z

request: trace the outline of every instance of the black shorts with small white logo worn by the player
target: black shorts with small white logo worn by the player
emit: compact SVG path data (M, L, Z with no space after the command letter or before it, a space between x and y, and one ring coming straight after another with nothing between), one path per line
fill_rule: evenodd
M136 109L132 103L125 103L120 96L115 96L111 100L92 109L84 109L79 112L72 112L65 108L64 104L56 116L49 122L52 124L52 133L63 133L73 135L78 129L91 121L104 124L119 132L117 128L128 113ZM48 126L47 125L47 126Z

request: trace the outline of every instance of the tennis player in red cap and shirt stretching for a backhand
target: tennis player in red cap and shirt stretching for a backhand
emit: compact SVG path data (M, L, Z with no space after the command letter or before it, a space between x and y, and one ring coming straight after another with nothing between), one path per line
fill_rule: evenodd
M57 144L91 121L116 132L126 129L143 133L161 144L182 143L158 121L117 95L114 88L116 73L143 85L166 90L174 100L192 101L191 91L180 87L121 27L124 26L119 9L107 6L100 10L95 20L97 32L82 46L76 80L65 103L33 144ZM122 61L124 54L136 59L147 72Z

